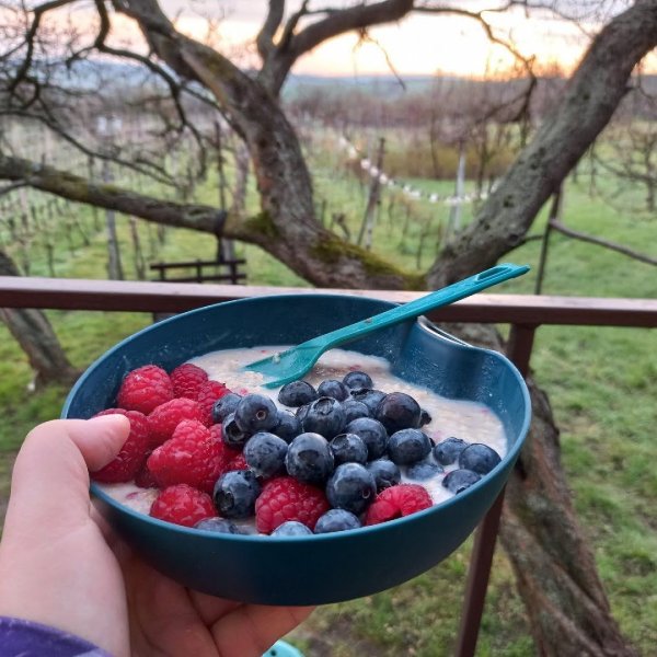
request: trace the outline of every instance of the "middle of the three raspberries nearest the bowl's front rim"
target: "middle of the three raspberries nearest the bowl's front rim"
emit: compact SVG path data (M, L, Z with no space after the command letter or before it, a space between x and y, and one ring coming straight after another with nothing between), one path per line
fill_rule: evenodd
M302 522L309 529L330 508L324 492L291 476L269 480L255 500L255 523L261 533L270 533L288 520Z

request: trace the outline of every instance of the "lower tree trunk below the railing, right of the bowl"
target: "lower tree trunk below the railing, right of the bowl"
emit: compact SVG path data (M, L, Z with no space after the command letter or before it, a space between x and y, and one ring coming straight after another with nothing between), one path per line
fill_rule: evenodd
M462 339L504 353L489 325L449 324ZM620 633L561 464L550 402L530 377L532 423L506 486L499 538L541 657L636 657Z

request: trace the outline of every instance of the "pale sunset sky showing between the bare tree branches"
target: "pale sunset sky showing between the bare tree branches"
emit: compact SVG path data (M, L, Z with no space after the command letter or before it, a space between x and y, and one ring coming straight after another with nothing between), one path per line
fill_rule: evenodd
M566 1L566 0L564 0ZM567 0L569 1L569 0ZM207 36L207 15L217 21L212 45L244 66L257 66L253 41L265 16L266 0L161 0L178 30L195 38ZM475 10L494 0L462 0L459 4ZM336 7L345 3L336 2ZM296 8L298 2L290 2ZM311 3L312 7L312 3ZM85 10L89 11L89 10ZM487 12L495 33L539 65L558 65L569 72L587 45L583 31L572 22L533 12ZM92 21L89 13L88 20ZM591 33L599 26L584 23ZM125 16L113 19L114 38L135 47L136 25ZM435 73L483 77L508 70L512 58L503 47L488 41L482 26L471 19L412 14L403 21L373 27L371 39L359 43L354 33L328 41L300 58L293 73L322 76L368 76L390 73L389 61L402 76ZM249 45L245 45L249 44ZM540 68L538 69L540 71ZM657 70L652 61L648 70Z

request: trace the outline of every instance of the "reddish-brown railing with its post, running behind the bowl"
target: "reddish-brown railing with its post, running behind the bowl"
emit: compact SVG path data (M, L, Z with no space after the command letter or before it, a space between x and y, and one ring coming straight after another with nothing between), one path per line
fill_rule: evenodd
M0 276L0 308L183 312L233 299L298 292L347 293L399 303L426 293ZM427 318L435 322L509 324L506 355L522 376L527 376L539 326L569 324L655 328L657 300L480 293L431 311ZM459 657L472 657L475 652L503 495L494 503L476 531L456 653Z

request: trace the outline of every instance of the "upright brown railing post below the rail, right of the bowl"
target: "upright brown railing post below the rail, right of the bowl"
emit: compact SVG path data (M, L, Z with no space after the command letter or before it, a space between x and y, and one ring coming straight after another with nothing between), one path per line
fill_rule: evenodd
M514 362L523 377L527 377L529 372L529 360L535 330L537 326L534 325L511 325L506 353L509 360ZM503 506L504 489L482 520L474 538L456 649L458 657L474 657Z

